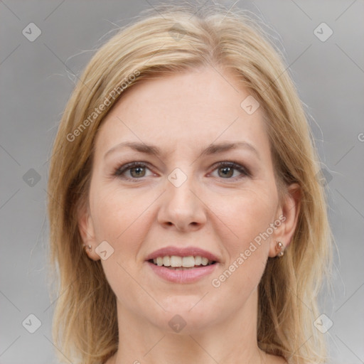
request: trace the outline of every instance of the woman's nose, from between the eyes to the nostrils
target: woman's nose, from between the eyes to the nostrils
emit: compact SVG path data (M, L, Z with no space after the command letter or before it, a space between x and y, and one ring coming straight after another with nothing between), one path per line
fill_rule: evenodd
M171 179L171 181L173 181ZM181 186L166 181L166 192L161 200L158 222L164 228L186 232L199 230L205 225L207 206L191 176L187 176Z

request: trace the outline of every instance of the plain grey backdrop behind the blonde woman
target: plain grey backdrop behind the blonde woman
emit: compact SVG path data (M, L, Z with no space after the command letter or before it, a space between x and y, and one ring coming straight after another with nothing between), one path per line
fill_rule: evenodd
M1 364L55 363L58 349L50 336L54 303L45 266L50 146L75 75L92 49L112 36L105 36L109 31L156 4L0 0ZM233 1L222 4L230 9ZM332 363L363 363L364 2L257 0L237 6L272 28L311 114L338 246L334 294L321 295L326 298L321 312L333 326L322 335ZM42 32L33 42L22 34L31 22ZM325 42L314 34L322 22L333 31ZM42 323L35 333L22 326L29 314Z

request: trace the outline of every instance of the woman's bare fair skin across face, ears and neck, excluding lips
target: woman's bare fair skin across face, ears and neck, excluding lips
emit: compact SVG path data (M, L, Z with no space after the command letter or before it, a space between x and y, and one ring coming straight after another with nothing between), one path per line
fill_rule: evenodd
M285 363L257 346L257 285L277 242L291 242L299 192L291 185L279 201L262 108L250 115L240 107L248 95L227 71L198 68L133 86L107 114L79 219L91 259L100 259L95 248L104 240L114 249L102 260L119 324L119 350L107 364ZM154 144L162 154L124 147L105 157L123 141ZM200 156L211 143L232 141L252 144L259 157L247 148ZM124 172L134 181L114 176L132 161L148 166ZM216 166L221 161L235 161L251 175L226 173ZM175 168L187 176L179 187L168 181ZM282 215L286 220L269 238L213 287L211 280ZM218 256L218 267L195 283L166 282L145 259L168 245L208 250ZM179 333L168 326L176 314L187 323Z

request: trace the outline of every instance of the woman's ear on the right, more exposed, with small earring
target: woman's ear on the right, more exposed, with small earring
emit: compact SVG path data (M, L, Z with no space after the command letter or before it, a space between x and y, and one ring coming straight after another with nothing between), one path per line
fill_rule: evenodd
M283 201L277 210L277 228L274 230L269 246L269 257L277 257L277 243L282 242L284 249L291 244L301 208L301 188L298 183L287 187ZM279 225L278 225L279 223Z

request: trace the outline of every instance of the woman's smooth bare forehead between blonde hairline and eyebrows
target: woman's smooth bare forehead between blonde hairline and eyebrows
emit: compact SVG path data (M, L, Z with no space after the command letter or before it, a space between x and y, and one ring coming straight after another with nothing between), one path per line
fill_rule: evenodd
M214 141L247 141L269 153L262 108L248 113L247 97L234 75L213 68L143 80L107 114L96 150L137 141L186 154Z

